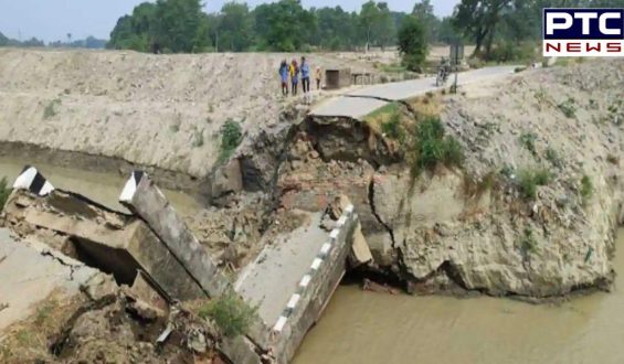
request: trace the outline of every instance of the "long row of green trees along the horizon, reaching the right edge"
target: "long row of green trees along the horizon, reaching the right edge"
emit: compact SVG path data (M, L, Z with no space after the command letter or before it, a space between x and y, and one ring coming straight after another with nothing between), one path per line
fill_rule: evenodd
M484 58L518 56L519 44L541 38L547 7L617 7L622 0L462 0L453 14L438 18L430 0L410 13L369 0L359 11L341 7L305 9L299 0L279 0L251 9L228 2L219 12L202 11L201 0L157 0L121 17L107 44L165 53L245 51L353 51L400 45L402 28L424 33L429 44L464 42ZM414 31L414 22L420 31ZM406 29L403 30L408 34ZM412 44L413 47L413 44Z

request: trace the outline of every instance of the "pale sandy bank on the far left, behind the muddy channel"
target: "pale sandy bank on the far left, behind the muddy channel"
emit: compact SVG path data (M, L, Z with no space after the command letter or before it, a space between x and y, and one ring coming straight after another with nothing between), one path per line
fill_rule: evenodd
M113 160L74 156L85 168L125 170L129 162L201 180L219 159L225 121L240 122L250 138L279 121L293 99L278 92L277 66L298 56L3 49L0 143L18 154L25 144L40 154ZM340 55L308 58L313 67L372 69Z

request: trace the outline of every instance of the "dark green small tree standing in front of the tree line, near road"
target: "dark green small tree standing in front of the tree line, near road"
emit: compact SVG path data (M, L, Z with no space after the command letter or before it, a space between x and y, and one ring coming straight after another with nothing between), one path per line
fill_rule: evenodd
M421 71L426 60L429 42L422 22L414 17L408 17L399 30L399 51L408 69Z

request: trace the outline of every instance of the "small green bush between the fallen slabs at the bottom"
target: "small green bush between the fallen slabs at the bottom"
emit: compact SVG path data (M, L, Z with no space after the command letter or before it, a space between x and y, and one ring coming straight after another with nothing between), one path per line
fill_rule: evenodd
M252 308L233 291L223 297L211 300L204 304L199 315L204 319L212 319L228 338L235 338L244 334L257 314L257 309Z

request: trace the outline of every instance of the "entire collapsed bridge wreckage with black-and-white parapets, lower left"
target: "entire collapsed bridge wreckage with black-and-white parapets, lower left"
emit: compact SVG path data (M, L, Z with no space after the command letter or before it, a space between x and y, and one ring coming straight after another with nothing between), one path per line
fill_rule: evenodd
M54 189L35 168L24 169L2 215L7 228L0 251L9 258L0 259L0 269L35 265L61 278L42 281L46 289L13 281L0 286L0 296L9 298L2 304L11 308L0 310L4 328L33 314L32 307L57 288L66 291L56 298L62 301L80 291L93 293L92 286L110 281L126 292L125 302L131 302L127 312L141 312L150 320L169 317L152 338L154 345L166 345L176 338L178 325L171 313L180 302L210 302L234 295L254 308L253 315L243 334L220 335L215 350L233 363L287 363L331 298L348 257L360 263L370 259L366 244L359 253L352 248L355 240L361 242L355 238L361 232L353 205L342 199L328 208L328 216L318 214L303 227L306 233L295 231L289 238L266 246L233 283L146 173L134 172L119 200L130 214ZM28 268L31 272L36 269ZM39 295L27 295L24 289ZM133 290L141 293L127 293ZM19 297L29 297L29 301L18 302ZM71 322L63 325L65 334L60 335L71 338L84 312L88 310L70 314ZM72 340L57 341L54 352L67 355L66 342ZM194 352L197 347L189 342L187 346Z

